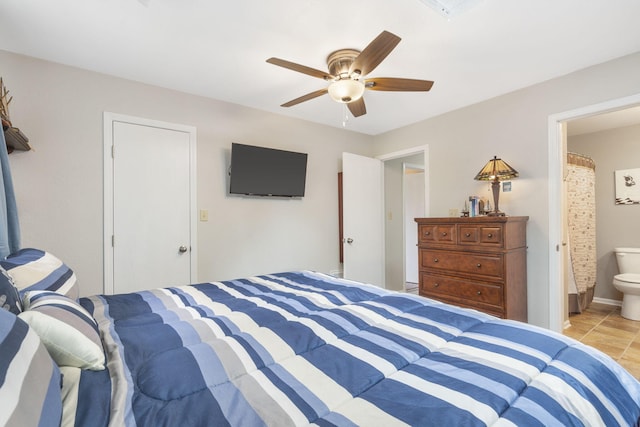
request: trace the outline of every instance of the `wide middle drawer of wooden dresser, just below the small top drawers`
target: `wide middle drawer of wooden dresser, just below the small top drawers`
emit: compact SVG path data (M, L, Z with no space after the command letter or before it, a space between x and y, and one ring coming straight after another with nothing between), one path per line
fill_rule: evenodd
M494 280L503 278L503 260L502 254L420 249L420 268L468 273Z

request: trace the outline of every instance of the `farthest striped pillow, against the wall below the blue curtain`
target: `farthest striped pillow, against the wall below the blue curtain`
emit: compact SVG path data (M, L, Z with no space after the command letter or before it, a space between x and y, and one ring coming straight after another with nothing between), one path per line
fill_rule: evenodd
M65 263L49 252L25 248L0 260L13 282L24 294L32 290L48 290L78 299L76 275Z

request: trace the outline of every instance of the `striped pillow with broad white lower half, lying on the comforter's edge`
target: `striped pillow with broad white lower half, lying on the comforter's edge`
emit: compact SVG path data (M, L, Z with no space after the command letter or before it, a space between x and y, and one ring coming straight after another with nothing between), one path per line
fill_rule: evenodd
M51 291L29 291L22 300L26 321L59 366L104 369L98 325L76 301Z

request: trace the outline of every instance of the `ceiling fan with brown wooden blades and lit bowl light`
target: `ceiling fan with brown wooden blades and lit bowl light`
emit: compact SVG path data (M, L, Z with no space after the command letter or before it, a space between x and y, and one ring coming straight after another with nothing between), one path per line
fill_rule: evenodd
M269 58L267 62L288 68L299 73L331 82L324 89L303 95L281 105L291 107L309 101L326 93L336 102L346 104L354 117L367 113L362 95L365 90L391 92L426 92L431 89L430 80L401 79L393 77L366 77L400 43L400 37L383 31L363 51L340 49L329 54L327 66L329 72L317 70L279 58Z

